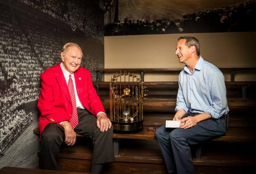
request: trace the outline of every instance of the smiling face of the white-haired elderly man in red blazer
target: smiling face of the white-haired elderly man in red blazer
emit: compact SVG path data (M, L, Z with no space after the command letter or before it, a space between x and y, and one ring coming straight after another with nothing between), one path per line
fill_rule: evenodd
M64 68L70 73L75 72L81 65L82 53L74 45L69 46L65 52L60 53Z

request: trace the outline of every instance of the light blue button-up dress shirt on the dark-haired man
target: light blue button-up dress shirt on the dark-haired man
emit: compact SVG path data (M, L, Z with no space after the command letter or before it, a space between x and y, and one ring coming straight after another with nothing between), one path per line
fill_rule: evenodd
M222 72L200 56L193 73L187 66L179 74L175 111L207 113L218 119L227 114L226 86Z

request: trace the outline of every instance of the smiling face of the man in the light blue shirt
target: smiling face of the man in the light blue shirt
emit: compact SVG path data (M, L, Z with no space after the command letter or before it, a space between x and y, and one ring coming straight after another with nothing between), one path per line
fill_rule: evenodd
M180 63L185 63L191 57L191 48L192 46L188 47L186 44L186 39L180 39L177 43L176 52L175 54L179 58Z

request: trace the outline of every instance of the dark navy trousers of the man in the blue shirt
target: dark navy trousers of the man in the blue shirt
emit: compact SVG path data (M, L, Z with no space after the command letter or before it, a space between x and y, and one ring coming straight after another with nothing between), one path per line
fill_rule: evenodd
M188 113L195 116L199 113ZM162 151L168 173L195 173L189 145L198 144L226 134L225 115L219 119L207 119L195 127L156 130L156 138Z

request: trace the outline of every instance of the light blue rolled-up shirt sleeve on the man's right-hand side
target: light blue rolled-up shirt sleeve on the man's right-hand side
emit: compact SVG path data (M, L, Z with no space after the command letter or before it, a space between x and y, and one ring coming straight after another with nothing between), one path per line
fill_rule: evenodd
M211 115L212 118L220 118L227 113L226 86L222 73L215 73L212 76L210 95L212 104L204 112Z

